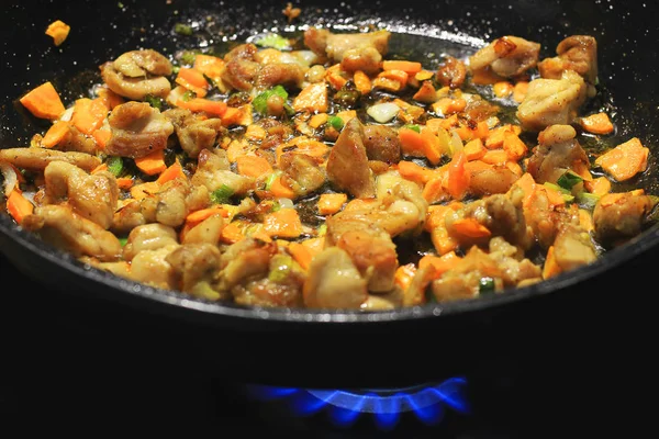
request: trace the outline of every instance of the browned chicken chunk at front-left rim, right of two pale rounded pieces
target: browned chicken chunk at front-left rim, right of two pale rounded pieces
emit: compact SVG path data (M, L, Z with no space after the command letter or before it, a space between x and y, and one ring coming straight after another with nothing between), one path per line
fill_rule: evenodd
M176 248L165 260L171 266L177 290L202 299L220 300L227 297L213 288L220 274L221 257L217 246L197 243Z

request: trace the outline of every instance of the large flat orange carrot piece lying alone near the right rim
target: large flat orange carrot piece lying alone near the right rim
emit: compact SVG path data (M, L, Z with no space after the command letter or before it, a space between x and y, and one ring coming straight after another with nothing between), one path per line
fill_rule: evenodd
M625 181L646 170L650 150L634 137L595 159L617 181Z

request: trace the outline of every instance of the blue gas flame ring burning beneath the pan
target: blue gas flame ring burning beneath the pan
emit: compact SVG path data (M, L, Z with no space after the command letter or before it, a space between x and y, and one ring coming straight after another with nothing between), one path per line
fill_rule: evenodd
M336 427L350 427L362 415L370 415L381 430L392 430L403 414L412 414L427 426L442 421L445 407L470 412L463 395L467 381L454 378L439 384L400 389L312 390L249 385L250 395L259 401L286 401L292 415L305 417L327 412Z

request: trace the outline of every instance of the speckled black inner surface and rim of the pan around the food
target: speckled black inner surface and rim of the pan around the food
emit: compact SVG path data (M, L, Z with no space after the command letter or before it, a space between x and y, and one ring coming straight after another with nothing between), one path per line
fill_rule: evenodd
M47 3L47 2L44 2ZM9 47L11 38L3 38L4 50L16 55L9 58L5 68L8 75L16 80L0 89L3 105L0 108L0 147L27 145L32 134L42 132L43 121L36 121L16 103L16 99L30 87L45 80L52 80L63 90L63 99L72 101L86 95L99 81L98 66L123 52L150 47L171 57L181 49L199 48L206 53L223 54L232 45L260 33L281 33L299 36L309 25L321 25L335 32L357 32L387 29L394 33L390 53L400 59L421 61L427 69L436 69L443 57L451 55L462 58L485 45L489 41L504 34L518 35L534 40L543 45L540 58L552 56L557 43L571 34L593 34L601 42L600 53L600 92L589 103L589 110L601 109L616 116L617 131L606 142L611 146L622 143L630 136L638 136L651 149L651 156L659 153L654 115L659 98L655 85L654 71L657 54L643 54L645 68L639 68L639 52L648 48L647 33L656 32L648 27L645 35L639 31L629 31L626 41L619 41L621 33L612 26L632 30L639 26L634 20L647 20L640 5L629 5L634 15L621 14L623 5L611 10L591 2L537 2L511 1L490 4L485 9L482 2L453 1L433 5L420 5L411 2L409 9L388 10L386 3L373 5L357 2L353 4L316 2L299 4L301 16L289 23L281 13L280 2L258 2L248 5L225 5L215 2L171 1L164 2L123 1L121 7L98 5L83 2L81 5L59 4L57 14L71 23L70 40L62 48L52 47L51 41L40 32L29 32L26 14L30 8L16 5L9 18L21 23L15 32L25 33L24 47ZM420 3L420 4L416 4ZM541 4L540 4L541 3ZM52 7L44 5L54 16ZM79 10L76 10L79 8ZM627 7L625 7L627 8ZM511 12L512 11L512 12ZM108 20L94 23L87 18L90 13L107 13ZM86 15L87 14L87 15ZM617 15L617 16L616 16ZM632 16L632 18L629 18ZM4 20L8 20L5 18ZM619 22L618 22L619 20ZM194 29L192 36L178 35L174 29L177 23L188 23ZM38 23L37 26L47 24ZM34 25L34 24L32 24ZM5 26L7 27L7 26ZM98 27L94 29L94 27ZM3 31L4 32L4 31ZM644 40L641 40L641 37ZM629 40L632 38L632 40ZM647 40L646 40L647 38ZM14 43L15 44L15 43ZM88 49L92 47L92 49ZM637 47L630 50L629 47ZM649 58L649 59L648 59ZM25 68L29 67L26 71ZM636 68L632 68L636 67ZM21 75L18 75L21 72ZM651 79L651 80L650 80ZM658 192L658 172L656 162L650 160L648 170L633 183L648 193ZM621 190L628 187L621 185ZM656 246L659 234L656 227L625 246L610 251L602 260L590 267L578 269L569 275L545 281L517 291L505 292L498 296L460 301L446 304L429 304L422 307L396 309L393 312L316 312L308 309L263 309L231 304L216 304L191 299L171 291L163 291L116 279L105 272L82 264L67 255L45 246L35 237L15 226L9 217L0 215L0 232L7 236L7 243L20 245L30 251L40 254L48 263L70 271L75 277L89 281L86 285L100 283L115 290L116 294L130 294L182 308L201 311L214 315L233 317L259 317L261 319L281 319L293 322L382 322L418 317L432 317L443 314L476 311L483 307L503 305L518 299L543 295L588 280L614 267L616 263L640 255L647 248ZM10 248L10 247L8 247ZM9 251L9 250L8 250ZM11 254L8 254L11 258ZM23 266L26 266L23 263Z

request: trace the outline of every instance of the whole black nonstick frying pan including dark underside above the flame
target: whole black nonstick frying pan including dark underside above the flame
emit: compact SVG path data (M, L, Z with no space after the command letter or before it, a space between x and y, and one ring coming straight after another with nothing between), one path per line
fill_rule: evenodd
M472 52L498 36L518 35L541 43L544 57L552 56L558 42L568 35L593 35L599 43L600 87L606 97L594 104L606 108L615 119L614 139L638 136L651 155L659 154L655 4L314 0L293 5L302 9L293 25L387 26L412 35L394 36L392 52L413 54ZM0 16L0 146L26 145L33 133L45 127L16 103L31 87L52 80L70 102L98 80L101 63L129 49L153 47L171 53L281 31L289 25L284 7L286 2L270 0L10 1ZM60 47L44 35L47 24L57 19L71 26ZM177 35L172 30L179 22L200 23L208 34ZM422 60L432 64L437 56ZM657 193L657 178L651 159L639 184ZM189 334L187 342L198 347L194 351L202 361L215 370L231 370L236 380L258 376L261 382L315 386L405 384L462 373L488 352L523 346L520 325L526 325L522 333L536 328L539 335L544 325L573 311L579 297L596 309L597 301L612 290L613 273L643 258L658 243L659 229L652 227L588 267L478 300L379 313L259 309L204 303L90 269L0 215L0 250L32 279L99 306L119 304L130 318L154 322L154 337L167 337L167 331ZM40 306L37 295L34 306ZM234 353L236 349L239 354Z

